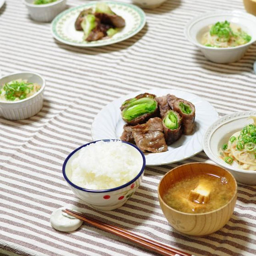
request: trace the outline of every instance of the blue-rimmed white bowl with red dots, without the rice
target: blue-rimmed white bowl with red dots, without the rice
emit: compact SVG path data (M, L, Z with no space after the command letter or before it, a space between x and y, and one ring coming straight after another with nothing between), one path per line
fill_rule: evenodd
M110 140L104 140L106 143ZM145 157L144 154L138 149L137 146L130 144L129 142L123 142L131 147L134 147L136 150L138 150L139 154L142 157L142 165L138 169L137 176L130 180L128 183L111 189L105 189L105 190L91 190L86 188L81 188L77 186L76 184L72 183L70 181L70 177L72 175L72 169L71 169L71 161L74 159L78 151L88 146L91 143L95 143L96 141L90 142L88 144L85 144L73 152L71 152L66 160L64 161L64 164L62 166L62 174L70 186L71 190L78 196L78 198L82 199L84 202L86 202L88 205L90 205L92 208L95 208L97 210L103 210L103 211L109 211L114 210L116 208L121 207L123 204L126 203L128 198L130 198L138 186L140 186L140 183L142 181L143 175L144 175L144 169L145 169Z

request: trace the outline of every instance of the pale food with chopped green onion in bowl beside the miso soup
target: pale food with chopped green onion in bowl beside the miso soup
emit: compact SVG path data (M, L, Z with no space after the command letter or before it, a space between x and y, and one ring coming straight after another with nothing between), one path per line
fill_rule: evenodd
M220 158L227 164L238 164L243 170L256 170L256 117L251 116L253 124L235 132L228 142L220 148Z

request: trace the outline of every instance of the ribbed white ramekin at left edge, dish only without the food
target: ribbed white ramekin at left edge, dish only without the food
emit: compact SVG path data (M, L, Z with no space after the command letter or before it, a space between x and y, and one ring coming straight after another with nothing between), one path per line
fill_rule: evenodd
M39 74L32 72L14 73L0 78L0 86L16 79L26 79L30 83L37 83L40 90L31 97L18 101L0 100L0 116L10 120L26 119L37 114L43 106L45 80Z

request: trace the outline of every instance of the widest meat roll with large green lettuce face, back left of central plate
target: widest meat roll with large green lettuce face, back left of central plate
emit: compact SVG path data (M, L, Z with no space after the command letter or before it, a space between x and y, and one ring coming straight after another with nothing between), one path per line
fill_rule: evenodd
M139 94L126 100L121 109L123 120L129 125L143 124L158 115L158 103L154 94Z

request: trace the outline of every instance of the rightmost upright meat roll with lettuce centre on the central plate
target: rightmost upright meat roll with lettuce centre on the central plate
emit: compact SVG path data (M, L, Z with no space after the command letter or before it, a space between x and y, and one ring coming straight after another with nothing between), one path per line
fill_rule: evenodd
M195 106L187 100L178 99L174 102L173 110L182 118L183 133L191 134L194 130Z

